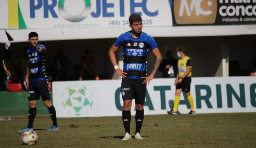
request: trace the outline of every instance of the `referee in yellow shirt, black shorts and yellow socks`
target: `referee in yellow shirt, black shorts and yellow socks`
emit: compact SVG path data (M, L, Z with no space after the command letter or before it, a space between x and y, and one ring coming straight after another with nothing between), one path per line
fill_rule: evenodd
M190 94L192 61L189 57L186 56L186 49L184 47L178 47L176 50L177 56L181 59L178 60L178 75L174 83L174 86L176 87L176 92L173 109L171 111L168 111L167 113L171 115L177 115L178 103L180 103L181 92L185 91L191 107L191 111L188 113L188 115L195 115L196 111L194 109L194 102Z

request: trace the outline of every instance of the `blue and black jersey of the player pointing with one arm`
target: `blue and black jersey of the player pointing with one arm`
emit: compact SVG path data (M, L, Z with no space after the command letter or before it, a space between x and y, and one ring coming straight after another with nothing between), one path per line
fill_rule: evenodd
M46 63L46 52L39 52L39 47L44 47L44 45L38 45L36 49L32 50L29 48L27 50L27 59L29 60L29 80L30 81L40 81L47 79L45 63Z

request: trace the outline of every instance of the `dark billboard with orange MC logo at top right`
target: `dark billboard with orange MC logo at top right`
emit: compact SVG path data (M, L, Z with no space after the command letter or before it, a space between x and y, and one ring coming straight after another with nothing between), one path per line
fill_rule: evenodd
M172 0L173 25L256 24L256 0Z

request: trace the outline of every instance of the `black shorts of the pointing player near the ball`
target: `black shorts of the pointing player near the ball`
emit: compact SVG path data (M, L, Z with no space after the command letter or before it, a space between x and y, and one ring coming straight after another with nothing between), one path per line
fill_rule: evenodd
M39 100L40 96L43 101L50 100L49 84L47 80L30 81L28 98L29 101Z

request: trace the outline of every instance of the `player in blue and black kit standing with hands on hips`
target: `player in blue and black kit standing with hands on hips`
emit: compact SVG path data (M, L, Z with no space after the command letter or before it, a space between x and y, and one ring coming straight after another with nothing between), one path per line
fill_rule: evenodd
M137 14L129 17L129 32L121 34L109 50L110 60L116 69L117 74L122 78L122 98L123 98L123 126L125 136L122 140L130 140L130 123L131 123L131 106L132 99L135 99L136 105L136 131L135 139L143 139L140 136L140 129L144 119L143 104L146 97L146 85L153 79L162 61L161 53L155 40L149 35L142 32L142 18ZM123 71L119 69L116 52L119 47L123 46ZM156 56L156 62L153 71L147 76L147 53L151 49Z

